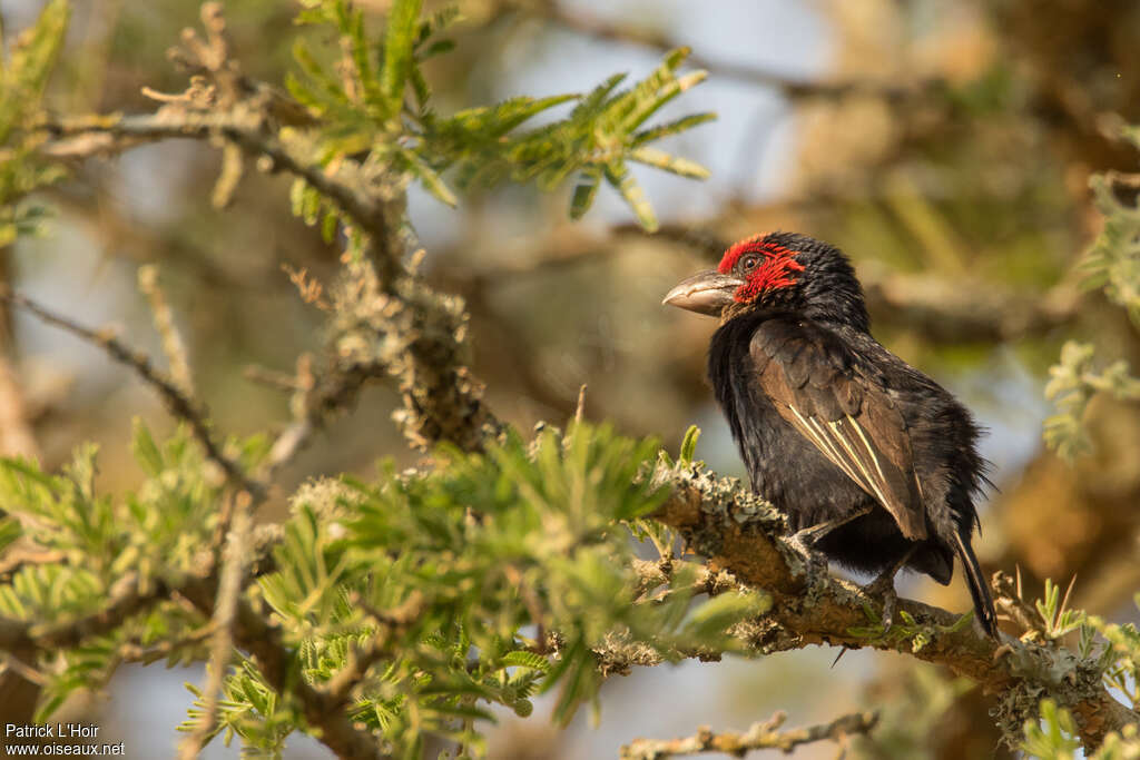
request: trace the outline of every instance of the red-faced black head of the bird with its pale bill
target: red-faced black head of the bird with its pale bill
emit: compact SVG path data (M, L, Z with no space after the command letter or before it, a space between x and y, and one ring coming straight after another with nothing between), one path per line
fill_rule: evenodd
M733 244L716 269L698 272L662 303L727 321L757 310L788 311L868 329L863 289L839 248L796 232Z

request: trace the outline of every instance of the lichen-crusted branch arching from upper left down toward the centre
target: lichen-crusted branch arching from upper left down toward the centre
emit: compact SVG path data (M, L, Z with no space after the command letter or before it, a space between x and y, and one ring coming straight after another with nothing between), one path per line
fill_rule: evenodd
M314 417L318 410L345 406L365 382L384 374L399 383L406 409L398 423L414 446L427 448L447 440L466 450L480 448L487 431L497 431L500 425L482 402L482 385L465 366L466 312L462 301L434 293L402 265L402 242L398 234L402 201L394 197L392 180L373 175L351 160L339 162L332 172L309 163L306 138L279 140L266 132L266 120L256 104L242 101L222 113L171 105L153 115L63 120L41 129L57 138L44 148L57 156L117 152L140 140L219 136L261 158L259 164L303 179L368 234L376 252L370 258L376 267L375 281L368 284L368 293L356 295L369 296L366 304L369 309L380 299L385 299L391 308L388 313L373 314L374 329L365 346L374 349L380 341L399 346L400 351L389 349L383 362L370 357L337 356L336 366L328 373L329 386L319 389L307 403L309 411L296 415L278 439L279 447L272 457L275 467L292 457L320 426ZM356 286L365 273L356 271L351 276ZM383 325L378 324L380 318ZM67 320L57 324L63 326ZM385 336L396 340L386 341Z

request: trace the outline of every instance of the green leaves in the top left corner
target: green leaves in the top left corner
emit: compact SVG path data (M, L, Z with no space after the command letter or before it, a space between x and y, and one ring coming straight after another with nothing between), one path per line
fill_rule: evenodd
M22 201L64 174L57 164L35 154L41 138L26 130L39 117L70 15L66 0L51 0L8 55L0 57L0 247L17 235L39 231L46 210Z

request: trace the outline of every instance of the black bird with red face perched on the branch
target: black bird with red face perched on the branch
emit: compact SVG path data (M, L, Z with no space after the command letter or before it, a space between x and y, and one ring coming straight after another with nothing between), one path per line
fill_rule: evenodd
M665 304L719 318L708 374L752 490L814 562L877 574L890 627L899 570L946 586L962 563L982 629L997 638L972 548L988 463L970 411L870 332L839 248L776 231L730 246ZM820 556L822 555L822 557Z

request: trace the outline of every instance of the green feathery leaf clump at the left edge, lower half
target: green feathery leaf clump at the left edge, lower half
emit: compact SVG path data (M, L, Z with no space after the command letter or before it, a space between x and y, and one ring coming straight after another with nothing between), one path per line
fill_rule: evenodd
M0 459L0 504L13 517L2 523L3 541L18 534L58 557L23 566L0 585L0 615L43 626L67 623L103 610L124 581L147 594L201 566L217 524L220 479L207 476L185 430L158 446L136 424L132 448L147 476L120 499L96 492L93 446L81 447L59 475L26 460ZM48 681L39 717L46 719L75 689L101 685L122 645L177 639L193 624L182 607L165 603L44 663ZM178 660L186 652L171 654Z

